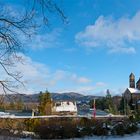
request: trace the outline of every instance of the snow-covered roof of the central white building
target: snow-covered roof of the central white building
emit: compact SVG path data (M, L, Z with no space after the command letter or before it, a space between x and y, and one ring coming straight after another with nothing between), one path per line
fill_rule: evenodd
M77 112L76 103L71 101L58 102L54 108L56 112Z

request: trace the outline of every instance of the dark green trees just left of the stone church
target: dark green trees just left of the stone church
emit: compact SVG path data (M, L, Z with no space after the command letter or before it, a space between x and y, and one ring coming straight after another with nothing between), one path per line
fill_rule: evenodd
M93 107L94 100L90 101L90 107ZM110 91L107 90L105 97L96 99L96 109L107 111L112 114L132 115L139 113L139 110L132 106L132 101L129 103L123 96L111 96Z

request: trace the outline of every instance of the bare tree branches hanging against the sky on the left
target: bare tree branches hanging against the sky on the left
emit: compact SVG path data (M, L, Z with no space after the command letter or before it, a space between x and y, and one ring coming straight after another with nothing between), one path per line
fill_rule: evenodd
M25 8L26 10L15 15L4 10L3 6L0 8L0 66L9 77L8 79L1 79L1 77L0 85L6 95L7 92L15 92L14 89L18 84L24 86L21 80L22 74L12 71L17 61L22 62L22 57L18 55L18 52L24 51L20 36L30 38L34 34L41 25L37 22L38 15L41 15L42 22L46 25L50 22L48 14L58 15L63 22L67 22L67 18L54 0L32 0L30 8Z

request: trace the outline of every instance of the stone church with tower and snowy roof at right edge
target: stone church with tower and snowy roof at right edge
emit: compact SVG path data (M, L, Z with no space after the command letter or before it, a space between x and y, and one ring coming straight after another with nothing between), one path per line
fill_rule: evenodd
M125 90L124 98L127 103L130 103L131 101L134 108L140 109L140 78L135 83L135 75L133 73L129 76L129 88Z

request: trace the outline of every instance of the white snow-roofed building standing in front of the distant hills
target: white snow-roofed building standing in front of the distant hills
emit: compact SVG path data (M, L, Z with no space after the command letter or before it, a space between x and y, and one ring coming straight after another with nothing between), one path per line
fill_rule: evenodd
M56 115L76 115L77 105L73 101L58 101L52 107L52 114Z

